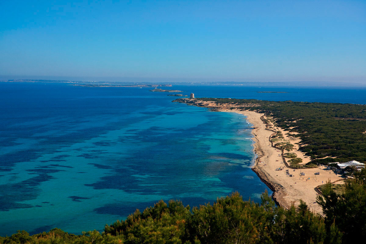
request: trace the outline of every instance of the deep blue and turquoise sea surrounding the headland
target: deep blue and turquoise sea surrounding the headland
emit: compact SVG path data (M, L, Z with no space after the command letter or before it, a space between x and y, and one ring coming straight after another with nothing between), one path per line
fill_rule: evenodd
M272 191L251 170L252 124L151 88L0 82L0 236L105 224L159 200ZM174 85L196 97L366 104L364 87ZM258 93L282 91L287 93Z

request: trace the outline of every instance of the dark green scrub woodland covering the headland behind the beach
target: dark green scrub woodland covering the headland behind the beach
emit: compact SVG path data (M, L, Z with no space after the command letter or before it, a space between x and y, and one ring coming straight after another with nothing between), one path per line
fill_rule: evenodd
M366 105L228 98L196 100L236 104L236 109L257 110L272 116L279 127L289 133L299 133L294 135L301 139L303 146L299 150L311 157L311 164L366 162L366 134L363 134L366 131Z

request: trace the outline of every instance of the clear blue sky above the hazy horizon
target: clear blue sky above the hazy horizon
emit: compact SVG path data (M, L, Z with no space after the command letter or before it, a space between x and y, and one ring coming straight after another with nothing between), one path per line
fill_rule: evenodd
M366 83L366 0L0 0L0 79Z

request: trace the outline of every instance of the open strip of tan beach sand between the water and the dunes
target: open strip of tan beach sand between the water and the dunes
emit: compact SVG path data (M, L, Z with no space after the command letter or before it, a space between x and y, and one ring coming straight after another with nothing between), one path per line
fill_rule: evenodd
M315 188L322 184L322 181L315 181L316 185L306 184L311 181L303 181L296 177L298 172L301 170L296 169L293 172L291 168L285 164L282 160L282 151L276 149L270 143L270 136L272 136L275 131L266 128L265 123L262 121L261 117L264 116L262 113L254 111L241 111L235 109L217 109L217 112L234 112L240 113L246 116L246 120L253 124L253 129L251 133L253 134L253 146L254 153L257 154L257 158L254 161L254 165L251 169L257 174L259 179L263 181L272 191L272 198L281 207L289 209L292 205L297 206L299 200L302 199L309 206L311 211L322 214L321 207L316 203L316 196L318 192ZM284 170L276 171L276 168L284 168ZM295 177L285 176L285 169L288 169L295 174ZM306 176L315 173L315 171L320 171L320 168L315 169L303 169L306 172ZM309 174L308 174L309 173ZM334 174L333 172L330 175ZM322 174L325 175L325 174ZM334 174L335 175L335 174ZM296 178L296 180L295 180ZM297 182L296 182L297 181ZM319 184L320 181L320 184ZM335 180L331 180L332 182Z

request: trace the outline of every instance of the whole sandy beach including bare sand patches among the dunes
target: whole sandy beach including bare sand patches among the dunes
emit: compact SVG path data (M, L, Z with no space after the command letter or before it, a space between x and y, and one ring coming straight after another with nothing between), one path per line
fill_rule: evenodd
M322 209L316 203L318 195L316 187L325 184L328 180L332 183L336 181L340 184L343 183L341 175L336 175L332 170L327 170L325 167L311 169L289 168L284 162L286 159L281 155L282 151L273 147L270 142L270 136L275 131L282 131L285 137L284 139L295 145L292 151L285 151L285 153L296 153L299 158L303 159L302 165L310 162L310 158L306 157L301 151L298 151L299 144L295 143L299 143L300 139L285 135L287 133L286 131L276 127L272 123L266 125L262 119L268 118L264 114L249 110L229 109L223 104L215 104L213 102L200 101L199 104L195 105L208 107L215 111L240 113L247 117L249 123L253 124L254 150L258 155L253 165L253 170L274 191L273 199L280 206L285 208L289 208L293 204L297 206L299 200L302 199L307 203L311 211L321 214ZM232 107L232 105L230 106ZM283 170L276 170L277 168L283 168ZM286 174L286 169L288 169L293 177ZM305 176L301 176L300 172L304 172ZM316 172L320 174L315 174Z

